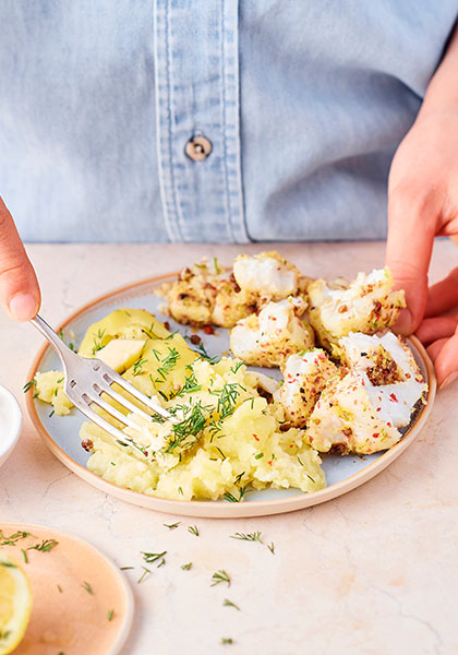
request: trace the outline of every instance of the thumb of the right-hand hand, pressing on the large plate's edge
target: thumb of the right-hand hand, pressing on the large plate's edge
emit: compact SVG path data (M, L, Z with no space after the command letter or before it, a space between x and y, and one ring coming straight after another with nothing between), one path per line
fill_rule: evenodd
M402 334L412 334L417 330L426 308L427 270L435 226L425 211L424 204L407 202L407 199L388 203L385 262L393 272L395 288L406 291L407 309L395 325Z

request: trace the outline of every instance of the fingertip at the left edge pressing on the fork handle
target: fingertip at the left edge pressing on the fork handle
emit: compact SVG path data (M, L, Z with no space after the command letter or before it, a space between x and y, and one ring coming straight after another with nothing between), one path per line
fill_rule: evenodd
M16 321L34 318L40 306L35 271L10 212L0 198L0 305Z

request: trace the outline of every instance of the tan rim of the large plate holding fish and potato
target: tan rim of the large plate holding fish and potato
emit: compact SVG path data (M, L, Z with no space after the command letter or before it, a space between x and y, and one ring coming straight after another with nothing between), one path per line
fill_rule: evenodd
M178 273L171 272L161 275L155 275L153 277L147 277L145 279L130 283L128 285L107 291L101 296L96 297L92 301L86 302L80 309L70 314L62 323L60 323L57 331L63 330L64 327L67 327L67 325L69 325L69 323L72 323L73 321L79 319L86 311L95 308L97 305L105 302L106 300L114 296L120 296L131 289L135 289L147 284L159 283L174 275L178 275ZM400 441L398 441L398 443L393 445L389 450L385 451L379 457L377 457L377 460L375 460L375 462L372 462L361 471L358 471L357 473L346 477L343 480L340 480L338 483L335 483L334 485L330 485L329 487L325 487L324 489L320 489L311 493L304 493L300 491L297 496L288 496L287 498L253 500L250 502L240 503L224 503L215 500L202 501L160 498L157 496L150 496L141 491L133 491L132 489L120 487L118 485L114 485L114 483L105 480L97 474L88 471L82 464L79 464L77 462L72 460L72 457L70 457L70 455L68 455L60 448L60 445L58 445L55 442L55 440L48 433L47 429L39 419L33 398L32 390L29 390L26 393L26 407L33 426L44 439L46 445L51 451L51 453L56 455L57 458L60 460L62 464L64 464L64 466L67 466L70 471L72 471L83 480L91 484L93 487L96 487L105 493L109 493L110 496L114 496L116 498L124 500L125 502L130 502L131 504L153 509L167 514L212 519L238 519L293 512L297 510L305 509L311 505L326 502L338 496L342 496L343 493L352 491L360 485L363 485L364 483L369 481L370 479L375 477L375 475L382 473L382 471L389 466L389 464L391 464L391 462L394 462L405 450L407 450L407 448L418 437L433 408L433 403L436 394L436 377L433 362L431 361L423 344L414 335L410 335L408 338L415 346L424 364L429 385L426 393L426 403L421 408L415 419L415 422L413 427L409 430L408 434L403 437ZM45 356L45 353L49 348L51 348L51 346L48 343L45 343L39 348L28 371L27 380L32 380L35 377L35 373L38 371L39 364L43 357Z

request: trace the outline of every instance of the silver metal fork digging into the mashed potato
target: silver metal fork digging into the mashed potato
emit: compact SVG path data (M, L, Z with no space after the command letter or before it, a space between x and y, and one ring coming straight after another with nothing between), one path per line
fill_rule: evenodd
M141 393L135 386L130 384L119 373L113 371L100 359L87 359L86 357L80 357L73 350L71 350L60 338L60 336L48 325L41 317L38 314L35 319L31 320L31 323L35 325L39 332L48 340L53 349L59 355L59 358L63 366L63 372L65 376L64 392L68 398L73 405L82 412L88 419L98 425L100 428L109 432L114 439L120 441L123 445L132 445L131 440L122 430L112 426L108 420L101 417L95 412L92 405L98 405L101 409L105 409L111 417L118 419L125 426L138 428L138 424L135 422L130 416L125 416L122 412L119 412L116 407L107 403L101 398L101 394L106 393L113 401L117 401L124 409L143 416L147 420L152 420L152 416L134 405L131 401L125 398L123 395L112 389L112 384L119 384L124 391L130 393L134 398L140 401L146 407L149 407L155 414L158 414L162 418L170 420L171 422L178 422L178 419L172 416L167 409L164 409L160 405L156 404L152 398Z

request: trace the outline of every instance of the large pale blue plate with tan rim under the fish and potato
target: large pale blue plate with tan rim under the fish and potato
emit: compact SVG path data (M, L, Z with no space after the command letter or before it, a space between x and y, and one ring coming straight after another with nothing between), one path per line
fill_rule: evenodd
M169 318L162 317L159 312L159 307L164 305L164 300L154 294L154 289L159 284L171 278L174 278L174 275L164 275L140 282L117 289L91 302L62 324L63 340L67 343L73 342L79 344L92 323L99 321L110 311L123 307L147 309L159 319L168 320L172 331L179 330L182 334L190 334L190 331L185 326L174 323ZM207 352L212 356L221 353L227 354L229 348L228 331L217 329L216 332L216 336L200 333ZM71 416L59 417L53 415L50 417L50 406L40 401L33 400L31 392L27 393L27 407L35 427L55 455L76 475L106 493L141 507L186 516L239 517L279 514L317 504L351 491L351 489L359 487L388 466L418 436L432 409L436 382L434 368L423 346L415 337L411 337L410 346L429 383L426 405L415 416L401 441L388 451L364 457L323 455L323 468L326 473L328 486L312 493L303 493L298 489L264 489L248 493L245 497L246 500L243 502L233 503L225 500L169 500L131 491L104 480L86 468L89 455L81 448L79 438L81 424L85 420L83 415L73 410ZM59 368L60 364L57 355L50 347L45 346L39 352L28 379L34 378L37 370L47 371ZM274 374L270 369L265 372L270 376Z

